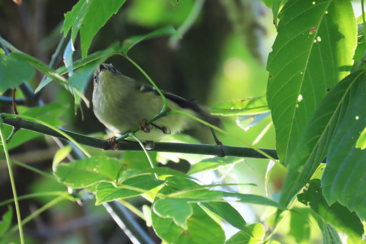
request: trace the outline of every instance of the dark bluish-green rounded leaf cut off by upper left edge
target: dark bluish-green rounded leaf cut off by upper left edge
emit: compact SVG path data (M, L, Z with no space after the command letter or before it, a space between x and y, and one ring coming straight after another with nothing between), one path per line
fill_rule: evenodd
M35 74L36 71L32 66L13 53L8 56L0 54L0 94L29 81Z

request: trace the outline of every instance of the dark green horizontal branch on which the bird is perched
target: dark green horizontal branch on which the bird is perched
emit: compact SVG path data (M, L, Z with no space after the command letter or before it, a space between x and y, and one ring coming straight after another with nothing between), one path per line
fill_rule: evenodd
M28 120L20 120L18 122L17 118L7 118L6 114L1 114L3 116L4 124L8 124L11 126L18 125L22 129L27 129L30 131L39 132L45 135L55 136L60 139L67 140L63 135L59 134L52 129L32 122ZM109 147L107 140L94 138L90 136L81 135L75 132L62 130L66 134L72 136L76 140L76 142L84 144L86 146L96 147L99 149L106 149ZM121 141L118 143L119 150L121 151L142 151L142 148L136 143L128 143ZM234 147L234 146L225 146L225 155L226 156L235 156L235 157L245 157L245 158L265 158L264 155L258 153L257 151L248 148L248 147ZM269 154L273 158L278 158L276 150L270 149L261 149L265 153ZM218 155L221 151L220 145L204 145L204 144L187 144L187 143L169 143L169 142L157 142L155 143L154 149L150 151L159 151L159 152L171 152L171 153L192 153L192 154L203 154L203 155Z

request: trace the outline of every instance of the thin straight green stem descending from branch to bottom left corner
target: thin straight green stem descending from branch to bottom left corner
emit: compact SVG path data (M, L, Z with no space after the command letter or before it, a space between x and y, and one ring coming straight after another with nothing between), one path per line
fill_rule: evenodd
M0 118L0 120L2 120L2 119ZM10 175L11 188L12 188L13 196L14 196L14 203L15 203L15 210L16 210L16 218L18 219L18 228L19 228L20 243L21 244L24 244L22 218L20 217L18 196L16 195L15 181L14 181L14 176L13 176L13 172L12 172L12 169L11 169L11 163L10 163L10 157L9 157L9 152L8 152L8 148L7 148L7 143L6 143L5 137L3 135L3 131L4 131L4 129L3 129L3 123L2 123L2 121L0 121L0 122L1 122L0 123L0 137L1 137L1 142L3 143L3 148L4 148L6 162L8 164L8 170L9 170L9 175Z

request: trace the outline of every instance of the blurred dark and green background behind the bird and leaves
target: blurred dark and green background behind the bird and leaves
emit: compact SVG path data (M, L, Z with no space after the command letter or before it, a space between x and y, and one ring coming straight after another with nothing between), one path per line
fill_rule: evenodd
M16 48L49 63L62 35L60 28L63 15L76 2L24 0L18 6L11 0L0 0L0 34ZM173 6L169 0L127 0L94 37L89 53L107 48L115 40L123 41L132 35L146 34L167 25L179 28L194 8L199 10L199 3L203 6L198 18L182 40L173 43L168 37L160 37L143 41L129 51L131 59L161 89L207 106L265 95L268 79L265 61L276 37L276 29L272 11L258 0L180 0L178 6ZM81 57L79 39L76 40L75 48L74 60ZM123 74L147 82L141 72L122 56L111 57L107 62L112 63ZM63 65L61 60L60 65ZM29 82L33 89L38 86L41 78L42 74L37 73ZM85 92L89 100L92 90L90 82ZM10 91L5 93L10 94ZM21 96L20 93L18 95ZM66 107L61 117L66 129L81 134L105 134L104 126L96 119L91 108L83 105L84 120L81 119L80 112L75 116L71 94L56 83L46 86L42 99L46 103L59 102ZM22 109L19 106L19 110ZM0 110L11 112L11 107L0 105ZM248 144L253 143L270 121L270 116L267 116L248 131L244 131L236 125L236 116L223 118L225 130ZM218 136L226 145L246 146L227 136ZM212 140L203 138L202 135L201 139L205 142ZM213 140L211 143L214 143ZM255 146L275 149L273 125ZM57 146L51 138L38 137L13 149L11 157L51 172L56 150ZM96 149L90 150L100 153ZM124 157L131 168L148 165L142 153L108 153ZM257 187L243 186L234 189L243 193L265 195L267 165L268 160L245 159L230 170L217 170L216 175L227 174L225 183L255 183ZM14 171L18 195L66 189L63 185L26 169L16 167ZM207 173L200 177L210 183L216 175ZM275 166L269 183L269 197L276 199L283 180L284 172ZM3 160L0 161L0 187L0 202L12 198L8 171ZM22 216L29 215L53 198L51 196L21 201ZM25 235L29 240L27 243L129 243L105 209L94 206L94 200L86 201L83 206L63 201L41 214L36 221L31 221L25 227ZM146 201L136 198L131 203L141 207ZM264 207L250 209L243 204L236 207L248 224L263 221L266 218L264 216L271 213L270 210L265 211ZM6 206L0 207L0 215L6 210ZM262 213L264 216L260 216ZM291 221L304 221L304 218ZM270 222L265 221L265 224ZM141 223L144 225L143 221ZM288 225L283 226L278 232L283 235L283 243L294 243L294 237L287 236ZM313 229L312 236L316 243L321 240L320 232ZM153 232L151 227L148 231ZM226 231L228 235L235 233L229 227ZM18 242L16 239L14 241Z

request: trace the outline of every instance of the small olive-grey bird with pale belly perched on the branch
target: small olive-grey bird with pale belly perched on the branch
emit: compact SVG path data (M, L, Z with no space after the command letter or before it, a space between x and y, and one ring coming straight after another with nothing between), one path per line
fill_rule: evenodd
M140 140L160 141L168 135L192 128L198 123L183 115L168 115L150 125L144 121L163 108L163 99L150 85L124 76L112 64L100 64L94 72L93 110L98 120L116 134L135 133ZM194 115L210 124L220 120L210 115L209 109L177 95L162 91L172 110Z

